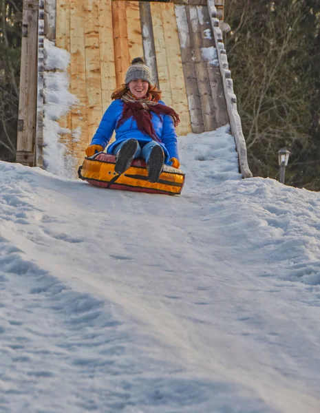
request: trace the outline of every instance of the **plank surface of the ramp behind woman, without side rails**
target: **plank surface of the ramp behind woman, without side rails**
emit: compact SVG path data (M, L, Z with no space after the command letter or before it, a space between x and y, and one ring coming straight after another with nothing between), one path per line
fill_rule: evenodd
M206 0L56 0L56 46L71 54L70 89L80 101L61 120L81 129L77 142L70 134L61 138L70 153L81 162L111 93L138 56L180 114L179 135L228 123L220 69L203 57L203 48L215 47L210 30Z

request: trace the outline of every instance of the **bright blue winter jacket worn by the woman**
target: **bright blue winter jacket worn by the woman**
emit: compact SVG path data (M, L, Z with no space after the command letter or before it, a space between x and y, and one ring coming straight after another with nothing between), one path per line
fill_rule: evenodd
M159 100L159 103L165 105L162 100ZM96 130L96 134L94 134L94 137L92 138L91 145L101 145L105 148L111 139L114 130L116 131L116 140L107 148L107 153L110 154L113 153L114 147L123 140L135 138L142 147L152 140L151 136L144 134L138 129L136 120L134 120L132 116L125 120L120 127L116 127L118 120L122 116L123 105L124 102L122 99L116 99L109 105L101 119L98 129ZM164 163L171 165L171 162L169 161L170 158L179 160L177 134L175 133L173 119L169 115L157 115L151 113L151 122L156 131L156 135L160 140L160 145L164 150Z

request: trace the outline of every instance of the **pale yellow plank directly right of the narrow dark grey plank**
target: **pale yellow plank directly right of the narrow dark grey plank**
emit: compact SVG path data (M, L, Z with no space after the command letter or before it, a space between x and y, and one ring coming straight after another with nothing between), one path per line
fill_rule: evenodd
M162 90L162 99L166 105L172 107L171 85L169 80L169 67L167 50L164 41L164 28L162 22L161 3L151 3L151 16L153 25L154 45L158 64L159 86Z

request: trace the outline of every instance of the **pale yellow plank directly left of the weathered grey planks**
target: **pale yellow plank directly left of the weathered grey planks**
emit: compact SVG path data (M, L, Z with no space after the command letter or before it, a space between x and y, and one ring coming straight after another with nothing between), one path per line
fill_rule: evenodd
M178 114L180 114L180 125L177 128L179 135L186 135L191 132L191 122L186 98L186 87L182 70L182 60L180 52L180 43L175 20L175 11L173 3L163 3L162 21L164 29L164 42L167 50L167 59L169 67L169 78L171 85L172 105Z

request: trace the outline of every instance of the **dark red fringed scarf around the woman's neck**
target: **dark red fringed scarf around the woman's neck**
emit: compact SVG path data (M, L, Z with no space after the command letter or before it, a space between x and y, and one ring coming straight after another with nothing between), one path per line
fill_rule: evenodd
M120 127L125 123L125 120L132 116L134 120L136 120L140 131L151 136L153 140L160 142L153 128L150 112L157 115L163 114L171 116L175 127L178 126L180 122L179 115L171 107L158 103L151 94L148 94L145 98L136 98L133 94L127 92L122 96L122 100L124 101L122 116L118 120L116 127Z

